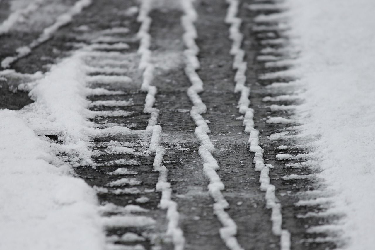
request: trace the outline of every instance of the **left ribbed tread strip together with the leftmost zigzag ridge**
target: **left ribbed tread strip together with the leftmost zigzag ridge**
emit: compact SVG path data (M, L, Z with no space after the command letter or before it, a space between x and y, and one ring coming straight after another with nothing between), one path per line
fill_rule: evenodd
M142 5L141 9L144 7L147 6ZM151 91L139 92L137 89L141 86L133 79L143 78L146 82L149 78L144 72L129 67L135 64L152 67L142 55L148 50L148 41L142 41L142 35L147 37L148 26L140 26L139 56L133 46L116 43L120 37L127 37L129 41L135 37L125 28L103 30L96 43L83 45L84 60L88 63L87 80L93 94L90 97L92 121L97 128L92 138L93 163L75 170L98 191L108 249L166 248L169 243L163 242L163 238L167 229L167 233L175 236L176 245L176 236L180 235L175 222L178 221L176 209L168 200L165 168L160 164L163 148L159 146L160 126L154 124L157 121L157 110L152 107L154 88L149 82L143 83L144 90ZM162 191L161 197L155 187ZM165 212L157 209L159 204L168 209L169 223Z

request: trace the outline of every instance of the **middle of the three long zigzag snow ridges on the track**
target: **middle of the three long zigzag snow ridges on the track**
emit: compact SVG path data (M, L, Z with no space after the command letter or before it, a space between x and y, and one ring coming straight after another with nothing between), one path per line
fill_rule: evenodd
M210 133L210 129L201 116L202 113L206 112L207 108L198 95L199 92L203 91L203 82L195 71L199 68L199 61L196 57L199 48L195 43L195 39L198 35L194 26L194 21L197 19L198 15L192 2L193 0L181 0L181 5L184 11L181 23L185 30L183 41L186 46L186 50L184 51L186 57L185 74L192 83L192 86L187 90L187 95L193 103L190 116L193 118L197 126L195 128L195 135L201 144L201 146L199 146L199 155L204 161L203 170L207 178L210 180L210 184L208 184L208 192L215 201L213 204L214 214L216 214L217 218L223 225L223 227L220 228L220 237L229 249L243 250L244 248L239 245L235 236L237 234L237 225L234 220L229 217L229 214L225 212L225 209L229 207L229 203L221 193L225 187L220 180L219 175L216 173L216 170L219 169L219 165L211 155L211 152L215 151L215 148L207 135L207 133Z

